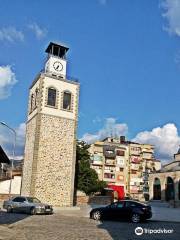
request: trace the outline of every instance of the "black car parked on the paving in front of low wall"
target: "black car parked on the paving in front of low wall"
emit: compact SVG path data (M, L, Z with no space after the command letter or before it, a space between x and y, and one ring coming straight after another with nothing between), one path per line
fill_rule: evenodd
M90 212L90 218L94 220L126 219L138 223L151 217L151 206L132 200L118 201L106 207L94 208Z

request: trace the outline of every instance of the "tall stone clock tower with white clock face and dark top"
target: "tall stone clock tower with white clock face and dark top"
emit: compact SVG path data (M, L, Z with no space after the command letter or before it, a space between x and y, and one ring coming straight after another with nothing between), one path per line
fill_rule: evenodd
M68 48L50 43L30 86L21 194L72 206L79 84L66 76Z

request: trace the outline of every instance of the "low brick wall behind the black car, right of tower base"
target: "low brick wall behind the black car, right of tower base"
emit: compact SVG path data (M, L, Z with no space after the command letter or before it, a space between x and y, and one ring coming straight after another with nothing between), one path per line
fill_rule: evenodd
M86 205L86 204L94 204L94 205L108 205L113 202L113 198L111 196L77 196L76 205Z

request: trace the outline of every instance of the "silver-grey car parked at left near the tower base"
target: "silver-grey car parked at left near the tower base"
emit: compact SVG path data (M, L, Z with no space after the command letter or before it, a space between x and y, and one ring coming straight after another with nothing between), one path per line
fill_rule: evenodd
M53 208L49 204L41 203L37 198L17 196L4 201L3 208L10 212L23 212L32 215L52 214Z

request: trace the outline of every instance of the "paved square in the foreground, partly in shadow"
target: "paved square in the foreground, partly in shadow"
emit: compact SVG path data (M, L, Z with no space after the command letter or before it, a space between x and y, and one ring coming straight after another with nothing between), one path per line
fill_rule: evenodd
M29 216L0 213L0 240L178 240L180 223L153 222L132 224L118 221L96 222L76 214ZM172 234L135 235L136 227L143 229L173 229Z

